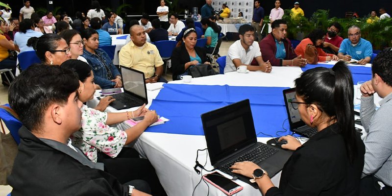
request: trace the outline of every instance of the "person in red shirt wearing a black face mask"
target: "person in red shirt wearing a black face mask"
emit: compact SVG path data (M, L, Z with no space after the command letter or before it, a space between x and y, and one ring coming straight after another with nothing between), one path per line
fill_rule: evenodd
M322 43L323 50L330 54L338 54L343 38L339 36L339 32L343 30L342 25L337 22L331 23L325 36L325 42Z

